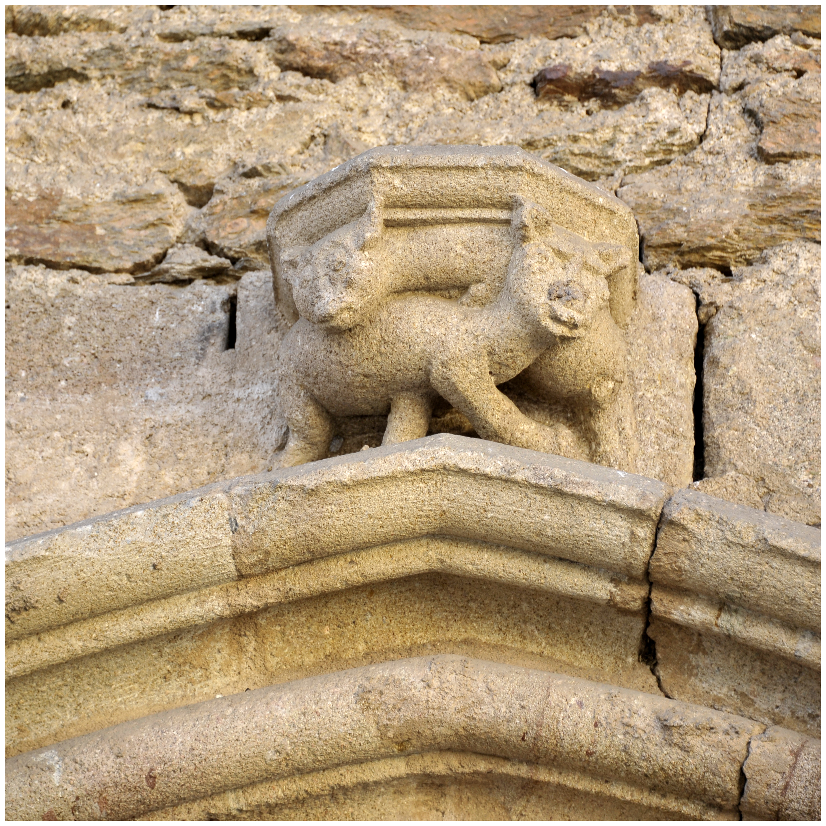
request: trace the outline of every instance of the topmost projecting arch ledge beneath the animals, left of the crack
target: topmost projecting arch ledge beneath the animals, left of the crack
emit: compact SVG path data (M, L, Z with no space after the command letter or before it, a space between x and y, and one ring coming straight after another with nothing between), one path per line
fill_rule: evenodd
M432 534L643 579L665 494L653 479L439 434L18 540L6 554L6 638Z

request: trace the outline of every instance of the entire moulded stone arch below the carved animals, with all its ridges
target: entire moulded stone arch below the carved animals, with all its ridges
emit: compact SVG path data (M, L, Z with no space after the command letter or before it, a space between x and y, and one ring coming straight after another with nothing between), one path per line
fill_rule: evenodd
M213 485L9 546L7 817L310 816L332 790L374 816L483 773L534 778L535 816L716 818L743 764L744 812L814 817L817 619L818 530L576 460L443 434ZM803 678L746 714L758 652Z

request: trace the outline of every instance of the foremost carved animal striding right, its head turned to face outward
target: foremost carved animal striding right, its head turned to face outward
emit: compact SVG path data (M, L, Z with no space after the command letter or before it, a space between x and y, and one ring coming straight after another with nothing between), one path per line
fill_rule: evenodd
M487 306L407 293L383 297L368 320L346 329L357 306L350 291L363 273L354 263L357 246L345 240L352 230L315 245L305 267L320 256L344 263L330 268L341 276L334 274L329 288L306 292L320 298L308 302L306 317L292 326L279 349L280 403L289 438L275 458L278 466L325 456L333 436L330 415L389 411L383 444L424 436L439 395L468 416L485 439L554 452L555 431L522 414L496 385L521 373L553 344L581 338L608 312L606 278L627 265L627 252L590 244L553 225L534 204L520 204L511 225L516 243L506 281ZM362 301L368 287L360 289Z

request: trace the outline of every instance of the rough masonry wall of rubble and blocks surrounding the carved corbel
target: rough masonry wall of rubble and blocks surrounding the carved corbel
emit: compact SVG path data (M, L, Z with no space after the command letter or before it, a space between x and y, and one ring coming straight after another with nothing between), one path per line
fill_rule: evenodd
M266 470L268 212L433 143L628 203L642 472L819 525L813 8L7 7L7 538Z

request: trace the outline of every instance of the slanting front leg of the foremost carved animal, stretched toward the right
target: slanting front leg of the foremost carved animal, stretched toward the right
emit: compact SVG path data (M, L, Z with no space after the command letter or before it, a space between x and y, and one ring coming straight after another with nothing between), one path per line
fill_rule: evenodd
M482 439L542 453L558 450L558 434L530 419L500 392L487 372L487 366L468 367L463 365L461 375L446 365L434 368L430 381L441 396L468 416Z

